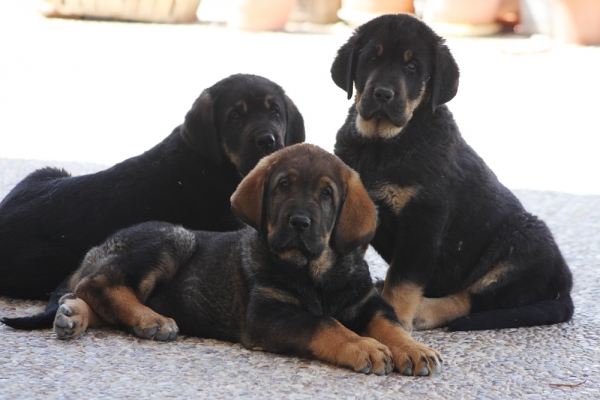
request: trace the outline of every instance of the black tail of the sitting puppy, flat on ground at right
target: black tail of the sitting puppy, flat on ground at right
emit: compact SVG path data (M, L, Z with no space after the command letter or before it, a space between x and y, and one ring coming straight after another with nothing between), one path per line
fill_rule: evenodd
M483 331L552 325L569 321L574 310L573 300L567 294L557 300L538 301L513 309L473 313L451 321L446 329L450 332Z

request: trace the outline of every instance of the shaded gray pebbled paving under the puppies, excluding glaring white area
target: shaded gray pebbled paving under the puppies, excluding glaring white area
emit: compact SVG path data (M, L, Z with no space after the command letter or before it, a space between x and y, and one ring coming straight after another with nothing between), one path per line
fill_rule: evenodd
M48 163L0 159L0 198ZM55 163L51 163L55 164ZM61 163L74 173L99 165ZM518 191L546 220L575 275L572 322L555 326L414 336L445 360L432 378L367 376L295 357L192 337L172 343L93 329L62 342L50 330L0 327L0 398L591 398L600 396L600 196ZM369 250L374 276L386 265ZM0 298L0 315L37 312L43 302Z

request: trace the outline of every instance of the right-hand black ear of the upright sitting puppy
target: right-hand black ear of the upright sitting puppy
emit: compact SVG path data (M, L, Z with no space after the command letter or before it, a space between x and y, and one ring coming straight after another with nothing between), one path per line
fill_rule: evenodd
M435 69L431 82L431 111L444 103L449 102L456 96L458 91L458 64L450 54L450 49L440 38L435 52Z

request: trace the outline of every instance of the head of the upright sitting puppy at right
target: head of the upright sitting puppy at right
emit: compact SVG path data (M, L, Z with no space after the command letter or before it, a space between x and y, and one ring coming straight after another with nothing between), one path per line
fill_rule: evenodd
M431 28L409 14L383 15L356 29L331 67L348 99L356 87L356 126L367 137L391 138L414 112L450 101L458 65Z

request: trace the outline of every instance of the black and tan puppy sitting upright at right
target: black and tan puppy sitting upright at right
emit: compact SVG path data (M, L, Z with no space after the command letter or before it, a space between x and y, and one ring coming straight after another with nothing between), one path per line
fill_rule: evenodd
M458 89L448 47L410 15L360 26L334 82L354 105L335 153L379 209L383 297L407 329L496 329L573 315L572 277L548 227L463 140L443 105Z

